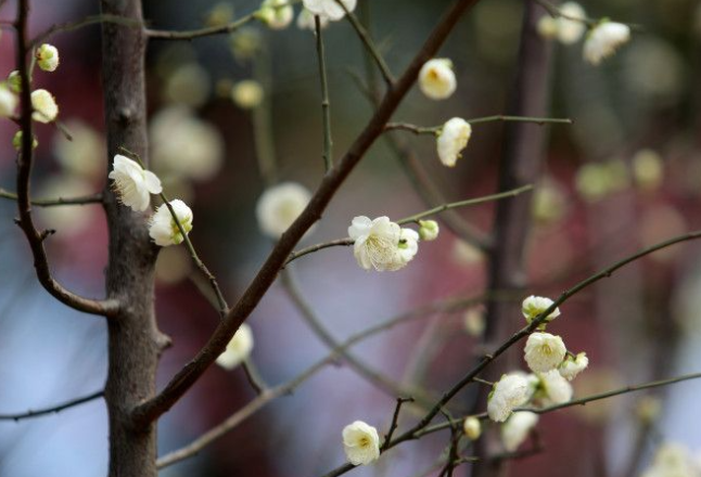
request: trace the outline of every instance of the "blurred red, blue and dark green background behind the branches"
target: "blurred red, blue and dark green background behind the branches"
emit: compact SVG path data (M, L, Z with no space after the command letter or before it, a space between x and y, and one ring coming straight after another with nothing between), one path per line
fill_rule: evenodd
M450 3L359 2L395 72L407 65ZM95 14L97 3L35 1L31 31ZM699 2L582 4L591 17L639 24L643 31L635 33L599 67L582 60L581 42L555 47L549 115L571 117L574 125L547 127L545 172L533 196L527 295L555 297L639 248L696 230L701 221ZM145 0L144 16L155 28L191 29L228 22L257 7L246 0ZM8 2L0 18L12 18L13 9L14 2ZM297 5L295 14L298 11ZM520 0L480 1L441 51L455 64L457 93L433 102L415 88L394 120L435 126L454 116L505 113L522 12ZM334 152L340 157L372 107L357 85L357 77L365 78L362 46L351 26L334 23L324 39ZM34 194L95 193L104 186L107 167L100 30L93 26L62 34L52 43L61 51L61 66L53 74L37 72L35 83L56 96L60 118L74 140L67 141L52 126L37 128ZM13 48L12 33L3 30L1 77L14 69ZM170 197L193 207L190 236L229 301L234 301L272 245L255 217L256 201L265 190L256 156L275 156L279 180L299 182L311 191L323 173L314 35L294 22L283 30L252 24L231 36L153 41L146 64L152 167ZM11 121L0 123L0 186L10 191L15 130ZM496 192L501 124L475 126L455 169L441 165L432 137L398 138L446 199ZM103 321L67 309L39 286L27 244L12 221L14 207L11 201L0 202L0 413L93 392L102 388L106 373ZM426 208L395 149L381 140L303 245L346 236L358 215L399 219ZM494 205L484 205L462 209L460 216L489 231L493 210ZM60 281L81 294L102 296L106 227L101 207L36 209L36 216L41 225L56 230L48 248ZM649 256L561 307L562 317L552 330L570 349L584 350L590 359L590 368L574 382L575 397L701 370L699 252L699 245L689 243ZM412 263L399 272L365 272L349 248L319 252L291 269L301 294L337 340L438 299L476 296L485 282L482 254L445 227L439 238L422 244ZM158 323L175 346L163 357L160 385L217 324L201 285L184 248L163 250ZM439 395L469 369L482 318L479 305L429 313L362 341L353 352L405 389ZM329 352L280 283L248 323L255 336L252 359L270 385L298 375ZM514 315L513 330L521 326L522 317ZM701 383L689 382L545 415L538 434L546 451L519 461L519 474L634 476L663 441L678 442L699 455L699 392ZM189 443L254 397L241 368L213 366L161 421L161 453ZM463 404L456 400L455 411ZM346 424L362 420L382 431L394 405L395 396L341 360L162 475L322 475L344 462L341 429ZM407 408L403 423L412 412ZM448 439L447 434L436 434L403 444L354 474L437 475L431 469ZM0 421L0 476L92 477L106 473L106 413L100 400L41 418Z

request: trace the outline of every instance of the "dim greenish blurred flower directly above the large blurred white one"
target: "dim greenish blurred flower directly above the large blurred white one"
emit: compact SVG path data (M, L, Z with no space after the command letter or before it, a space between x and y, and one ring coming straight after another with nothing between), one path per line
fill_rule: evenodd
M163 95L169 103L200 107L212 91L209 73L195 62L188 62L173 70L165 81Z

